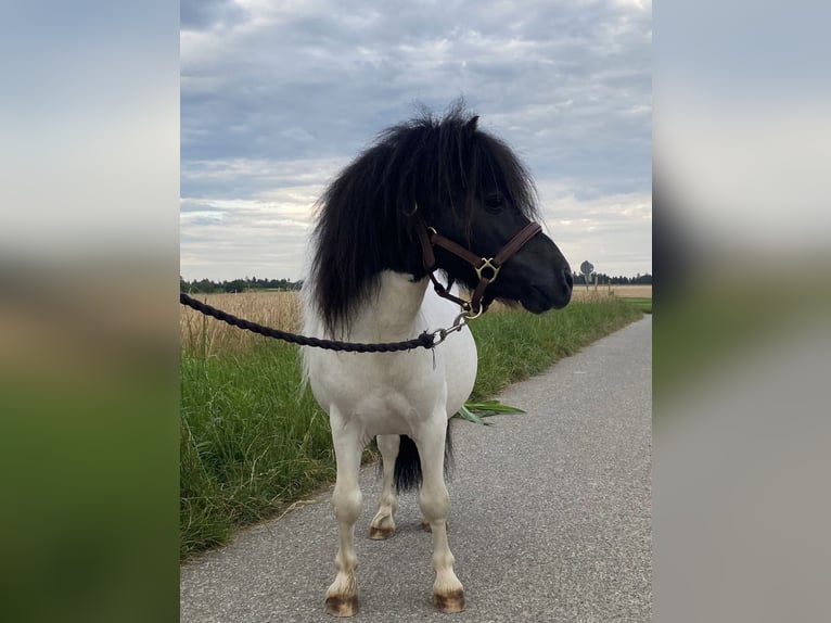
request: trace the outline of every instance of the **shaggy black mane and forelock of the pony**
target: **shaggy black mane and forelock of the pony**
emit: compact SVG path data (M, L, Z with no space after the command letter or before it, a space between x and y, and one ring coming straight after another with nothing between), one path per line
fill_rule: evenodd
M320 198L309 287L331 332L348 326L382 270L426 275L412 227L417 208L427 225L450 211L469 232L477 192L498 185L517 209L537 218L527 170L501 140L477 129L477 119L462 102L443 117L422 111L384 130Z

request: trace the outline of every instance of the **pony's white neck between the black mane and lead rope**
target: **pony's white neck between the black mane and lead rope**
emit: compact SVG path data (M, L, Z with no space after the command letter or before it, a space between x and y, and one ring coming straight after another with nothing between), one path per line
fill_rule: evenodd
M376 294L355 316L353 333L384 342L413 336L430 280L413 281L412 275L392 270L382 270L378 279Z

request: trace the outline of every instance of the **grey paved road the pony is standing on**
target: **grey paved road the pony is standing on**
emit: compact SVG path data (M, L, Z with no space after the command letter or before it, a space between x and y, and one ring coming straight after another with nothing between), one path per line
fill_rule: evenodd
M354 621L650 621L651 347L645 316L500 396L528 415L455 423L449 536L463 613L431 608L416 494L402 496L391 541L366 538L379 483L365 469ZM331 622L330 493L184 565L181 621Z

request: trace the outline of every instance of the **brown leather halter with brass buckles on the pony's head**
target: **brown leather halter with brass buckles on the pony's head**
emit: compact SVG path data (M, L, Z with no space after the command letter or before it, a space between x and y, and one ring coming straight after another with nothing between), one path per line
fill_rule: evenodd
M509 240L494 257L477 256L461 244L453 242L449 238L445 238L434 228L427 227L422 218L417 220L416 231L418 232L419 241L421 242L422 262L424 263L424 268L430 272L430 280L433 282L433 289L443 298L447 298L448 301L452 301L457 305L460 305L469 317L475 318L487 310L487 305L482 304L482 297L485 295L485 289L488 284L496 281L502 265L508 262L514 253L520 251L526 242L542 231L542 227L538 223L529 223ZM476 288L473 290L473 295L470 301L464 301L459 296L450 294L452 278L450 278L450 282L447 287L443 285L436 278L435 270L438 266L436 265L436 256L433 253L434 246L440 246L473 266L480 280Z

